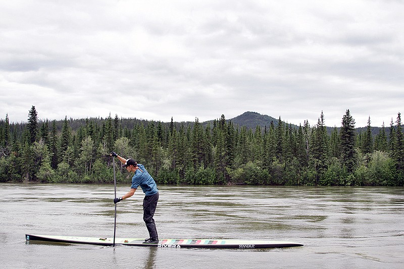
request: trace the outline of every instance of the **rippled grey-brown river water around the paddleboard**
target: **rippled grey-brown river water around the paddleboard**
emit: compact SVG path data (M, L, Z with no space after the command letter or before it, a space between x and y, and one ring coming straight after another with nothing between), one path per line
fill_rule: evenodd
M117 187L118 196L128 185ZM174 249L26 243L113 237L114 186L0 184L3 268L402 268L404 189L159 186L160 238L271 239L303 247ZM117 204L117 237L146 238L143 193Z

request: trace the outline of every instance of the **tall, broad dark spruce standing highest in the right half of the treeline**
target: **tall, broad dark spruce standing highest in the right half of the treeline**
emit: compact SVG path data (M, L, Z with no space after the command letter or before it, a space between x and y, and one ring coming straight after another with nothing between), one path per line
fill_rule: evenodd
M342 117L342 125L340 130L341 137L341 164L346 168L348 173L353 173L356 167L356 151L355 151L355 120L346 110Z

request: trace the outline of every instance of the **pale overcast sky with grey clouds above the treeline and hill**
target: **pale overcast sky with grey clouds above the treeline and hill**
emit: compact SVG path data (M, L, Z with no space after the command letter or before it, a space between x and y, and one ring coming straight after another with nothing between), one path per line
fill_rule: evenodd
M0 0L0 119L390 125L404 2Z

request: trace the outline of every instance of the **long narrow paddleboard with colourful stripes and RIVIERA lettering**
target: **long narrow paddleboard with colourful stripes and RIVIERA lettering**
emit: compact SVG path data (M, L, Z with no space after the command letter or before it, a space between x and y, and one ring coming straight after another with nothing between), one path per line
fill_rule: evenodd
M112 246L113 238L56 236L56 235L25 235L27 242L42 241L69 244L90 244ZM303 244L288 241L244 240L244 239L161 239L158 244L143 244L140 238L115 238L116 245L142 247L172 247L172 248L279 248L299 247Z

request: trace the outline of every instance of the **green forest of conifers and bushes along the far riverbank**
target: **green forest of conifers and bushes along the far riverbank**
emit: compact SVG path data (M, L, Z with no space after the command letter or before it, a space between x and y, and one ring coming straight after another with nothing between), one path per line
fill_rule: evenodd
M0 182L114 182L111 151L134 158L158 184L402 186L401 115L378 134L355 128L346 110L327 132L321 112L315 126L279 117L268 126L234 125L224 115L206 123L162 123L112 118L0 119ZM115 162L118 183L131 175Z

